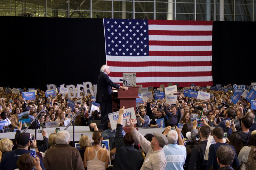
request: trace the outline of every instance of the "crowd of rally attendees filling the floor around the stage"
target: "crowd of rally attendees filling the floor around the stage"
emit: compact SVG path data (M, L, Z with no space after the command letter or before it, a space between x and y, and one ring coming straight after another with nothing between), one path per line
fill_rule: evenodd
M0 112L5 126L1 133L16 131L16 136L14 141L0 140L0 169L107 169L109 161L112 169L254 169L255 164L249 160L256 162L256 124L250 102L241 97L234 104L231 91L224 93L207 89L207 92L213 96L208 101L185 97L184 94L175 104L167 103L165 99L143 101L136 108L137 123L130 119L131 132L125 133L121 121L124 107L119 110L114 130L109 120L106 129L98 129L95 123L90 122L100 120L101 116L101 112L95 110L89 117L93 102L90 94L81 100L72 99L82 102L76 102L75 109L71 109L67 96L62 97L61 94L45 97L45 93L38 89L36 99L26 101L22 96L11 92L7 94L3 89L0 91ZM44 106L47 107L42 110ZM80 150L71 147L67 131L59 131L47 138L43 130L42 145L31 141L29 133L21 133L24 127L18 114L22 112L29 112L31 119L41 112L31 124L35 129L45 128L46 122L51 121L58 121L59 126L64 126L64 121L73 119L81 108L74 125L94 129L93 146L89 137L82 135ZM160 126L158 119L164 120L162 134L152 133L153 128ZM149 128L149 134L141 135L136 127ZM215 143L207 150L210 136ZM109 139L110 152L102 147L103 139ZM35 158L27 156L29 148L36 149ZM13 154L19 156L13 158ZM60 156L62 161L58 164ZM10 162L16 164L10 166Z

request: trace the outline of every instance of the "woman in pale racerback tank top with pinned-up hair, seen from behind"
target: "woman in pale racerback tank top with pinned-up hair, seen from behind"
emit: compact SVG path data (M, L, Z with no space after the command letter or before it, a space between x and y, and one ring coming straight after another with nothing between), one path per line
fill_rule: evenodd
M101 131L93 133L94 145L85 149L83 166L90 169L107 169L109 166L109 151L101 147L103 140Z

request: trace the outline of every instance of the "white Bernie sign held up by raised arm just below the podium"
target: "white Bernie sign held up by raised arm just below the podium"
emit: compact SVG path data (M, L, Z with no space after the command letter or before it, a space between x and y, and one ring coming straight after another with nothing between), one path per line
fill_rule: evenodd
M123 127L130 125L130 117L135 119L135 124L137 123L134 108L128 108L124 110L123 113ZM109 120L112 130L117 128L117 121L119 118L119 111L109 113Z

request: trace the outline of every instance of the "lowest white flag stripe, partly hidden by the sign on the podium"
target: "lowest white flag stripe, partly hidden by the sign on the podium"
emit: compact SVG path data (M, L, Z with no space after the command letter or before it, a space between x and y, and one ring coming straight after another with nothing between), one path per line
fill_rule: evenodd
M119 79L122 77L110 77L113 82L120 82ZM212 76L201 76L201 77L136 77L136 84L147 83L147 82L211 82L213 81Z

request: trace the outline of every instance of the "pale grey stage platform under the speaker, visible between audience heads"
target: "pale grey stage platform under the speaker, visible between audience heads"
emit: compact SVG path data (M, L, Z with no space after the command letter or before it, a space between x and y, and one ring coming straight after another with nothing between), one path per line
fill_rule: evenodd
M61 130L65 129L65 127L59 127L59 128ZM49 137L49 135L51 133L54 133L55 128L45 128L44 130L46 130L47 137ZM72 142L73 141L73 127L70 126L67 130L70 133L70 142ZM149 128L139 128L138 130L144 136L145 134L148 134L148 133L151 133L151 134L153 134L154 132L162 133L163 130L165 130L165 128L150 128L149 127ZM23 132L23 131L24 130L21 130L21 132ZM35 134L35 130L33 130L33 129L28 129L26 132L30 133L30 134ZM16 132L0 133L0 139L9 138L9 139L13 140L15 137L15 133ZM90 131L89 126L75 126L74 127L74 141L75 142L79 141L81 134L87 135L90 139L93 137L93 132ZM37 137L36 138L37 141L43 140L43 136L41 133L38 133L38 129L37 129L36 137Z

